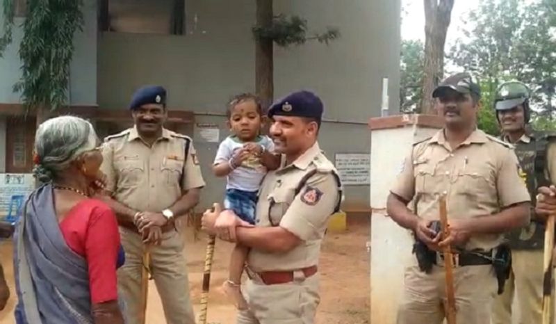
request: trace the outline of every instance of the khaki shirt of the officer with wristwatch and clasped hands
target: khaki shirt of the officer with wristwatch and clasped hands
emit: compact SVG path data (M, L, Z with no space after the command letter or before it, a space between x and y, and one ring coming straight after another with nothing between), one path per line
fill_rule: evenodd
M185 191L204 186L193 141L163 129L149 147L137 129L131 128L105 139L101 166L106 190L112 197L138 211L160 212L172 206Z

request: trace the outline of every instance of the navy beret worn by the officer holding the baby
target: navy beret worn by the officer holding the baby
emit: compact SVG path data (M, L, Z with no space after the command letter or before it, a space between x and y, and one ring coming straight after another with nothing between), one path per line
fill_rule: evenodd
M317 95L309 91L297 91L272 104L268 109L268 117L295 116L316 118L320 121L322 111L322 101Z

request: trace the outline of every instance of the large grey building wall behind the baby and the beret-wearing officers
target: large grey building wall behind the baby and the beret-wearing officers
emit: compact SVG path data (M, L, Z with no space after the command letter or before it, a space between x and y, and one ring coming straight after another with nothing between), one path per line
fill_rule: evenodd
M398 111L400 1L275 1L275 13L307 19L311 31L340 29L329 45L309 42L275 49L275 97L314 90L325 102L320 144L337 152L370 152L367 120L379 115L382 78L389 104ZM124 109L133 90L158 83L168 106L195 111L197 122L227 133L224 104L231 95L254 91L255 19L252 0L186 1L187 35L101 33L98 91L103 109ZM216 143L195 138L207 182L202 205L221 199L224 181L211 175ZM346 200L368 203L368 186L348 186Z

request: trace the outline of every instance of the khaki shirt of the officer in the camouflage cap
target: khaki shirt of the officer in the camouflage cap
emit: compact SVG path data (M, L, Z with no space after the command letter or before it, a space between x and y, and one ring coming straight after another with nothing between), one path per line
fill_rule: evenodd
M439 220L442 193L448 219L487 216L530 202L520 171L512 145L475 130L451 149L441 130L413 147L391 192L407 201L414 199L414 212L427 220ZM464 248L490 250L502 239L502 233L475 234Z

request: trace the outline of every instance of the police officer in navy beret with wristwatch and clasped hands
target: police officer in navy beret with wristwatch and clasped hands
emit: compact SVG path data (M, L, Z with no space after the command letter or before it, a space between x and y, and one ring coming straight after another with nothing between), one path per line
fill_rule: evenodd
M143 266L154 277L166 323L195 323L183 240L174 220L197 204L204 180L191 139L163 127L165 102L161 86L137 90L129 105L135 126L108 136L103 149L108 203L117 213L126 252L118 284L132 324L142 317ZM150 264L143 265L144 243L160 241L150 248Z

